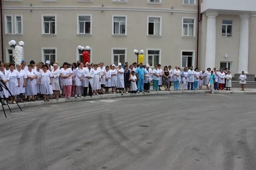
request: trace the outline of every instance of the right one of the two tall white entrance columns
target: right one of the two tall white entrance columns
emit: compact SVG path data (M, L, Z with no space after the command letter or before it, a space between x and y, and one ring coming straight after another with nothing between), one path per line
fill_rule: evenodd
M240 44L239 44L239 59L238 72L244 71L248 73L248 55L249 55L249 14L240 15Z

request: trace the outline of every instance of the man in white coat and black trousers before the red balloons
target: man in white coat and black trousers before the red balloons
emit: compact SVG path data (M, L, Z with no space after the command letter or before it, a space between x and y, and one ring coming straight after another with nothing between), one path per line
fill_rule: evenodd
M93 85L93 77L94 71L91 68L91 63L87 64L87 67L83 69L83 96L87 96L88 87L89 87L89 96L93 96L92 85Z

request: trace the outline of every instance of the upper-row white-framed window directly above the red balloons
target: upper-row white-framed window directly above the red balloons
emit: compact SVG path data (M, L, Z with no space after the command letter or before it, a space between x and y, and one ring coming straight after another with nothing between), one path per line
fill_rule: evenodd
M91 15L78 15L77 20L77 34L91 34Z

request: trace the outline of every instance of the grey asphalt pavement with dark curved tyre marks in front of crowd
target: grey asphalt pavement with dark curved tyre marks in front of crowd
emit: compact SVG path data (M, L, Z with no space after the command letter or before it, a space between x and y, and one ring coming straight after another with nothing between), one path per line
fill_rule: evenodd
M256 170L255 98L152 95L12 109L0 115L0 170Z

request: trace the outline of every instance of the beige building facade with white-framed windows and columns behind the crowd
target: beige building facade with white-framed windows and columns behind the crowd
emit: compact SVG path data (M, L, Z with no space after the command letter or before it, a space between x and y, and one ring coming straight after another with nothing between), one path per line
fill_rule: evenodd
M8 42L22 40L24 59L35 62L76 62L77 46L88 45L93 63L132 63L143 49L150 65L256 74L254 0L217 1L4 0L3 59L12 60Z

